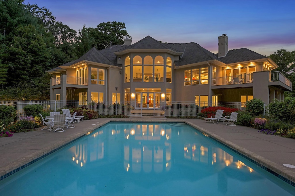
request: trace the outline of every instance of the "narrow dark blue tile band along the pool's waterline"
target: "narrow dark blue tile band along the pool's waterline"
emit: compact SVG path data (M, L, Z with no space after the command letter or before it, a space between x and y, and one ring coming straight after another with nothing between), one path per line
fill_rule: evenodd
M210 133L208 133L207 130L206 130L206 133L204 133L202 128L200 128L200 127L198 127L198 126L196 126L196 125L194 125L194 124L191 124L191 123L189 123L189 122L186 122L186 121L142 121L142 120L141 120L141 121L136 121L136 120L135 120L135 121L134 121L134 120L133 120L133 121L113 121L113 120L110 120L109 122L116 122L116 123L130 123L130 122L131 122L131 123L147 123L147 122L148 122L148 123L185 123L185 124L188 124L189 126L194 127L198 132L204 134L206 137L210 137L210 138L213 139L215 142L218 142L218 143L221 144L222 146L224 146L224 147L226 147L226 148L232 150L233 152L235 152L235 153L237 153L238 155L242 156L243 158L249 160L250 162L252 162L252 163L254 163L255 165L257 165L258 167L262 168L263 170L266 170L267 172L270 172L270 173L273 174L274 176L278 177L279 179L283 180L284 182L288 183L289 185L295 187L295 183L294 183L293 181L291 181L291 180L287 179L286 177L284 177L284 176L278 174L277 172L275 172L275 171L269 169L268 167L265 167L264 165L262 165L262 164L260 164L259 162L253 160L252 158L250 158L250 157L248 157L248 156L242 154L241 152L239 152L239 151L233 149L233 148L230 147L228 144L224 144L223 142L219 141L218 139L212 137L212 136L210 135ZM81 136L79 136L79 137L77 137L77 138L75 138L75 139L73 139L73 140L71 140L71 141L69 141L69 142L67 142L67 143L65 143L65 144L63 144L63 145L61 145L60 147L57 147L56 149L51 150L50 152L47 152L45 155L42 155L42 156L40 156L40 157L38 157L38 158L36 158L36 159L34 159L34 160L28 162L27 164L24 164L24 165L18 167L17 169L14 169L14 170L12 170L11 172L8 172L8 173L2 175L2 176L0 177L0 181L1 181L1 180L4 180L6 177L9 177L9 176L12 175L12 174L14 174L14 173L16 173L16 172L18 172L18 171L24 169L25 167L27 167L27 166L29 166L29 165L31 165L31 164L33 164L33 163L35 163L35 162L41 160L42 158L44 158L44 157L46 157L46 156L52 154L53 152L56 152L57 150L59 150L59 149L65 147L66 145L71 144L72 142L75 142L76 140L80 139L81 137L84 137L84 136L86 136L86 135L89 135L89 134L93 133L96 129L98 129L98 128L100 128L100 127L103 127L104 125L108 124L109 122L106 122L106 123L104 123L103 125L101 125L101 126L99 126L99 127L96 127L95 129L92 129L91 131L89 131L89 132L87 132L87 133L85 133L85 134L82 134ZM247 153L245 153L245 154L247 154Z

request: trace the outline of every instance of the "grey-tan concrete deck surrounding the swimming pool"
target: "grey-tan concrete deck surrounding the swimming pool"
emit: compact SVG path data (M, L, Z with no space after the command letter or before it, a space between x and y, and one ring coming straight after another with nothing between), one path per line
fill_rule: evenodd
M42 131L42 127L33 132L14 133L12 137L0 138L0 176L15 170L42 155L101 127L110 121L153 121L186 122L187 124L226 144L233 150L253 159L279 175L295 182L295 168L283 164L295 165L295 139L266 135L257 129L243 126L227 126L206 123L201 119L166 119L157 117L134 117L124 119L92 119L75 123L75 128L65 132L52 133Z

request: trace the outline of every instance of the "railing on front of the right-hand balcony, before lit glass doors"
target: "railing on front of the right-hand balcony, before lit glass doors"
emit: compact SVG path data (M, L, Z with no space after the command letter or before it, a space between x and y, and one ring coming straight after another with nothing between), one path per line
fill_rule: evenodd
M213 78L212 85L253 83L253 74Z

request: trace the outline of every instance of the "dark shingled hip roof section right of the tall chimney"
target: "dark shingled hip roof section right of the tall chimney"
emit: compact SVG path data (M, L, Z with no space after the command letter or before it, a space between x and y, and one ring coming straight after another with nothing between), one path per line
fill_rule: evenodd
M215 54L215 56L218 57L218 54ZM264 58L267 58L267 57L263 56L262 54L258 54L257 52L254 52L252 50L249 50L247 48L241 48L241 49L234 49L234 50L228 51L227 55L225 57L219 58L219 60L226 64L230 64L230 63L251 61L256 59L264 59Z

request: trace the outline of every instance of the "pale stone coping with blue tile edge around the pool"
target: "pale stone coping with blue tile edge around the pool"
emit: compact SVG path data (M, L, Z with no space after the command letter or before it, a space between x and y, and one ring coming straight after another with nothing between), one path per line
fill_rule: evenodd
M34 162L37 162L38 160L41 160L42 158L46 157L47 155L50 155L51 153L61 149L62 147L65 147L66 145L76 141L77 139L80 139L81 137L84 137L88 134L91 134L94 132L95 129L98 129L109 122L163 122L163 123L172 123L172 122L184 122L191 127L194 127L199 132L203 133L207 137L211 137L218 143L222 144L223 146L229 148L230 150L233 150L237 154L241 155L242 157L248 159L249 161L253 162L255 165L263 168L264 170L270 172L271 174L275 175L279 179L285 181L289 185L295 187L295 172L290 171L286 169L285 167L276 164L275 162L272 162L260 155L255 154L254 152L251 152L250 150L247 150L237 144L234 144L233 142L230 142L210 131L207 129L204 129L202 127L199 127L196 124L193 124L191 122L186 121L185 119L175 119L174 121L166 121L166 120L143 120L143 119L133 119L133 120L126 120L126 119L109 119L105 122L101 122L100 124L97 124L96 126L93 126L91 128L87 128L84 131L81 131L77 134L72 135L71 137L65 138L59 142L56 142L54 145L50 147L42 148L41 150L38 150L37 152L31 153L27 157L23 157L15 162L9 163L9 165L2 167L0 170L0 181L4 180L6 177L24 169L25 167L31 165Z

